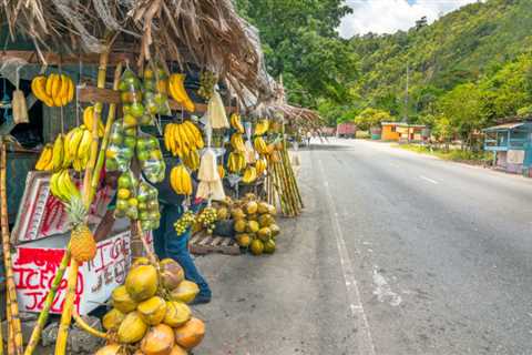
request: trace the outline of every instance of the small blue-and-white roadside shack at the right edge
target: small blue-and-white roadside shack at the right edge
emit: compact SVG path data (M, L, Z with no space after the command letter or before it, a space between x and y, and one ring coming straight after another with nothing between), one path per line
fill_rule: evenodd
M532 121L490 126L483 130L484 151L493 152L493 166L531 176Z

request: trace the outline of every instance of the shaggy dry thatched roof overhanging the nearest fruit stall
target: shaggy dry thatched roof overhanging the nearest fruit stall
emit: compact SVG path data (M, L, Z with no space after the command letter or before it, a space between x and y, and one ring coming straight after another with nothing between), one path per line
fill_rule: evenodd
M192 58L241 97L272 94L258 33L232 0L4 0L0 19L12 38L32 39L38 52L101 53L119 38L141 62Z

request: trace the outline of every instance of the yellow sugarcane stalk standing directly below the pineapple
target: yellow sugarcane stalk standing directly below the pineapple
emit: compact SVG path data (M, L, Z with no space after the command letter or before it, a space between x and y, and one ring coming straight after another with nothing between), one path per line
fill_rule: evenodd
M71 258L66 297L64 298L63 313L59 323L58 338L55 339L55 355L66 354L66 342L69 339L70 322L72 321L72 310L75 301L75 286L78 284L79 264L75 258Z

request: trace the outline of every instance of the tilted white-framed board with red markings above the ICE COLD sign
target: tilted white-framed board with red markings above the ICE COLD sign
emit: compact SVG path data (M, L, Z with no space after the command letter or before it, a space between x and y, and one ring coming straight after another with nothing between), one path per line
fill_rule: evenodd
M81 181L74 180L76 184ZM98 224L114 195L109 186L99 189L91 205L89 223ZM16 244L62 234L69 230L64 205L50 193L50 173L28 173L12 237Z

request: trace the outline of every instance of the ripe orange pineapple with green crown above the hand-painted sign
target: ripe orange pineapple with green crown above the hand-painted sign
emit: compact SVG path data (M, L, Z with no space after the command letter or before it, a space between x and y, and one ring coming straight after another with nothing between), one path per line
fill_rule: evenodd
M72 197L66 206L72 233L70 252L78 263L88 262L96 255L96 242L85 224L86 209L79 197Z

